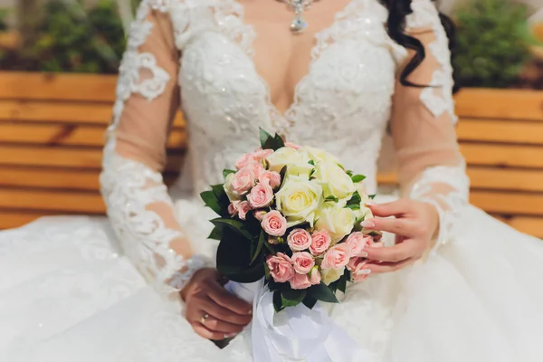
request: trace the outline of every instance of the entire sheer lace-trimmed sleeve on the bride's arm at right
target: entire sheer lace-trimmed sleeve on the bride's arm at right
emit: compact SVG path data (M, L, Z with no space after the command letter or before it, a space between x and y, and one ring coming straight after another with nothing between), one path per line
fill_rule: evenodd
M397 81L391 131L402 195L435 206L440 226L436 247L452 239L468 204L470 181L454 125L449 41L430 0L414 0L407 31L424 44L424 62L408 77L424 88ZM414 52L410 52L410 57Z

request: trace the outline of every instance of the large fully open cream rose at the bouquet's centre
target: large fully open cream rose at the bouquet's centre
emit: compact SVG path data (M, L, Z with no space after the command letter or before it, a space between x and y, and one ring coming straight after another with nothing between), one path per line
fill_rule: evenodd
M277 210L287 218L290 227L303 222L312 225L321 197L322 188L318 184L290 176L275 195L275 200Z

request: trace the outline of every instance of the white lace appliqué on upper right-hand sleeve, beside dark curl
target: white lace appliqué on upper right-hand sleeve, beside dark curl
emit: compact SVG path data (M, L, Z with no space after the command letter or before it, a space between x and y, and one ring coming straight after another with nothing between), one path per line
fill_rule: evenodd
M454 113L454 100L452 99L451 51L449 39L443 29L439 13L430 0L414 0L411 4L413 13L407 16L407 27L411 30L430 27L435 34L435 41L428 45L430 52L440 64L441 68L433 73L431 87L425 88L421 93L424 106L430 110L434 117L447 112L453 123L458 121Z

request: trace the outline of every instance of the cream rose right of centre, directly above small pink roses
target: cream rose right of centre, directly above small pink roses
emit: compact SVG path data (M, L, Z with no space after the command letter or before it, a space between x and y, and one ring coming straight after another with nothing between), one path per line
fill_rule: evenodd
M357 216L353 210L343 207L325 207L316 214L315 227L329 232L332 243L338 243L353 230Z

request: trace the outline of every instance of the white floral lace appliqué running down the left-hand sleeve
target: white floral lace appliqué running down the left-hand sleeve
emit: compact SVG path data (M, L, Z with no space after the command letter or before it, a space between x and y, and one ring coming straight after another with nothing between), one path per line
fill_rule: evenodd
M128 50L119 70L117 101L100 175L110 222L123 250L148 281L154 281L157 290L165 292L181 290L194 272L205 266L205 262L197 257L184 260L170 249L170 243L183 234L168 228L159 214L147 208L159 203L173 213L174 205L162 175L137 161L119 156L115 152L113 131L119 124L125 101L133 93L155 100L170 81L169 74L157 65L152 53L138 52L153 28L146 19L149 12L153 9L164 13L168 8L167 0L144 1L138 8L136 21L131 26ZM150 71L150 78L141 80L142 69ZM177 282L172 284L170 281L174 275Z

